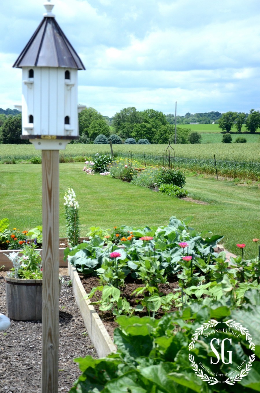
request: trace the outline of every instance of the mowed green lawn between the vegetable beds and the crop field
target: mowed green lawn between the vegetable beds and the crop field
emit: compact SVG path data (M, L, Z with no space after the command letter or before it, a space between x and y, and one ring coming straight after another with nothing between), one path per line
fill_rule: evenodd
M108 229L165 225L170 216L193 215L192 227L225 235L224 245L237 253L246 243L245 257L255 257L253 238L260 238L258 187L241 187L227 181L188 177L186 188L196 204L165 196L109 176L86 175L81 163L60 164L60 237L66 235L63 197L71 186L79 201L81 235L91 226ZM28 230L42 223L41 165L0 165L0 212L11 227Z

